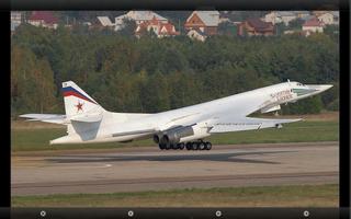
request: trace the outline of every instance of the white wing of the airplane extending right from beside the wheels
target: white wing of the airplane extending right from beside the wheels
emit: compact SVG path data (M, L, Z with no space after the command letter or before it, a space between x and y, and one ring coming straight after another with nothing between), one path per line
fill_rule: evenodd
M236 122L217 122L210 130L211 134L241 131L241 130L256 130L262 128L279 128L281 124L294 123L302 120L296 119L268 119L268 118L249 118L238 119Z

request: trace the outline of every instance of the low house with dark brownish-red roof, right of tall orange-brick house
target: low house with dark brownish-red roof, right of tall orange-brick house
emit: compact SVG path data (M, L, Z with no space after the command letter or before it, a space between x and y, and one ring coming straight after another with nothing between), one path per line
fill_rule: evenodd
M238 35L271 36L274 35L274 25L260 19L248 19L238 24Z

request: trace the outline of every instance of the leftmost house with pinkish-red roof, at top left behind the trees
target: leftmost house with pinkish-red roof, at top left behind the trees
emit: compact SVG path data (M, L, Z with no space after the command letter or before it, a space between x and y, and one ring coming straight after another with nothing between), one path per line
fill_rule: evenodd
M34 26L57 28L58 19L50 11L33 11L27 22Z

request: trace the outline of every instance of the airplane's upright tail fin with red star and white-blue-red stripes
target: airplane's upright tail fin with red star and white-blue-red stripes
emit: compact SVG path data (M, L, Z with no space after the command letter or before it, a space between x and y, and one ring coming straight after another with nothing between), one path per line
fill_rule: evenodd
M63 82L66 116L80 117L87 114L100 114L104 110L75 82Z

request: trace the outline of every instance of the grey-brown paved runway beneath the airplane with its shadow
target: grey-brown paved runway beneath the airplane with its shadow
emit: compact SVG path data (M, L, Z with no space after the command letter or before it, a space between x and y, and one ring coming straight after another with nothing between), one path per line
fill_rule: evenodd
M339 183L339 142L156 146L12 157L12 196Z

